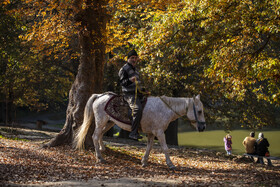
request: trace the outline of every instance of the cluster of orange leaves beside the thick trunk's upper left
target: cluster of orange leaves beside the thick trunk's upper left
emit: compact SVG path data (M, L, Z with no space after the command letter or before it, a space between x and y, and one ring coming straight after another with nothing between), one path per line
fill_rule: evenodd
M30 23L28 32L21 36L23 41L33 45L35 53L50 56L60 53L60 58L68 54L69 41L75 34L75 25L70 19L73 12L67 12L70 4L64 1L30 1L23 2L24 5L18 11L23 19ZM32 8L26 8L31 7ZM55 56L57 58L57 56Z

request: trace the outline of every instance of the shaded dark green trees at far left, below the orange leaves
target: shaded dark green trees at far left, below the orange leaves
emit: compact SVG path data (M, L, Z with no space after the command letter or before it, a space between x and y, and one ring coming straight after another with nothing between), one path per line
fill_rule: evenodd
M32 43L22 40L28 20L16 11L19 5L4 1L0 8L0 119L5 123L16 118L17 107L43 110L64 103L73 79L71 71L46 58L42 50L30 50Z

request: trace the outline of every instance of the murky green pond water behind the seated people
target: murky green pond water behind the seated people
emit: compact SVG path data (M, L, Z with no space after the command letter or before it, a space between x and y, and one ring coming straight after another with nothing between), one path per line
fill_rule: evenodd
M280 130L277 129L262 132L270 144L270 155L280 157ZM233 154L244 153L242 142L249 133L250 131L247 130L234 130L230 132L232 135ZM181 132L178 134L178 141L180 146L207 148L225 152L223 138L226 134L227 133L223 130L205 131L201 133L195 131ZM255 138L257 138L258 134L259 131L256 132Z

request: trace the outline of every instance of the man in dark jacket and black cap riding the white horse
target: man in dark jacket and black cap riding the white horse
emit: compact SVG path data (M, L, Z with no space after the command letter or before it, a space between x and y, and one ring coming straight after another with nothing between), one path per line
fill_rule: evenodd
M134 140L142 138L138 133L138 127L140 125L143 111L141 104L143 95L139 92L141 88L138 86L141 81L139 72L135 68L138 59L137 52L135 50L130 51L127 55L127 63L119 71L124 99L132 110L132 127L129 138Z

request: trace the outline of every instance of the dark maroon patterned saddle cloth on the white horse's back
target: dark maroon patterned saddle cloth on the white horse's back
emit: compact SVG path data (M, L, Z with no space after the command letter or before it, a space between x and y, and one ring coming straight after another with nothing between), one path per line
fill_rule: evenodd
M146 96L143 97L141 103L144 109L147 103ZM110 117L114 118L115 120L118 120L119 122L125 123L127 125L131 125L131 109L122 95L113 95L111 99L106 103L104 110Z

